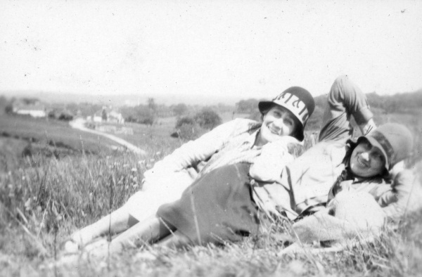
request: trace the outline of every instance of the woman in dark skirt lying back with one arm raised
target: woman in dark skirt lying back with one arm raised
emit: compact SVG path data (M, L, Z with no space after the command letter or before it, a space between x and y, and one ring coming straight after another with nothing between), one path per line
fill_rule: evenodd
M260 103L260 108L266 105L274 103ZM400 174L391 181L389 170L409 155L411 134L399 124L386 124L352 141L350 115L362 131L374 127L364 94L347 77L339 77L328 95L320 142L301 157L286 163L286 141L270 143L252 167L240 162L200 176L179 200L162 205L154 217L94 253L120 252L137 240L167 246L236 242L260 233L274 216L298 219L324 213L328 193L335 197L346 186L373 195L385 214L399 214L408 183L400 182Z

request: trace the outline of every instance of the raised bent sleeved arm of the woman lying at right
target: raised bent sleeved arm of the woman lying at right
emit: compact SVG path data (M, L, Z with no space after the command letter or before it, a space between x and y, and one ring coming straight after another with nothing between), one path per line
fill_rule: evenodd
M328 94L319 141L349 138L352 135L350 115L362 134L369 134L376 128L365 94L347 75L343 75L335 79Z

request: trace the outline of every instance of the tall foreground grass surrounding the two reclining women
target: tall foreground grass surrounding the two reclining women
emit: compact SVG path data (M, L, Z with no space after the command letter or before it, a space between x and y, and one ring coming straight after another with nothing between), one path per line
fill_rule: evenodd
M308 147L311 140L308 134ZM172 150L143 160L119 152L50 158L36 167L27 159L0 175L0 276L419 276L422 271L421 212L407 214L374 243L338 254L280 257L283 241L273 231L225 247L146 246L103 262L54 266L60 243L72 231L120 207L141 188L143 172Z

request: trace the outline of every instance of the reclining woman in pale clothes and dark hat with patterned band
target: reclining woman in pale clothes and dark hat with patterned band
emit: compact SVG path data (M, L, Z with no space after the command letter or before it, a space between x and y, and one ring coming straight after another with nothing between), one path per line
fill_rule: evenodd
M303 129L315 108L314 98L298 86L283 91L271 102L260 103L263 122L238 119L222 124L196 141L190 141L145 172L143 188L127 203L90 226L72 234L69 252L107 233L121 233L154 216L160 205L173 202L200 176L238 162L252 162L262 146L287 136L293 143L304 139Z

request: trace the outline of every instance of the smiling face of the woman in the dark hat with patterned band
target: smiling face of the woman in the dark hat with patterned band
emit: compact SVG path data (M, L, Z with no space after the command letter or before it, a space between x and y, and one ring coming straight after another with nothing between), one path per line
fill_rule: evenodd
M263 146L281 136L290 136L298 128L298 120L290 110L274 105L264 115L260 135L255 145Z

